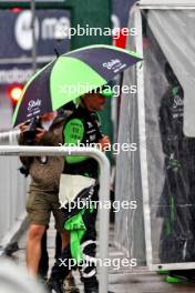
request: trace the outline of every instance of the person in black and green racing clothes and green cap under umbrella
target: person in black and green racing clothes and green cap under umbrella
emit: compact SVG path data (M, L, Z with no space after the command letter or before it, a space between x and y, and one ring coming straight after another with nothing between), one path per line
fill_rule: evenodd
M85 93L80 99L80 104L75 109L75 111L70 115L68 121L64 124L64 143L65 145L69 143L78 142L82 143L82 145L90 145L92 143L99 143L101 149L104 150L107 145L110 145L109 137L102 134L101 132L101 124L100 118L98 115L98 111L103 110L105 105L106 98L112 97L113 93L111 90L102 88L98 89L96 91ZM98 176L99 176L99 168L98 162L94 159L85 158L85 156L66 156L65 164L64 164L64 173L75 176L76 181L80 180L80 176L84 176L89 180L93 180L93 184L89 188L83 189L80 194L75 194L76 199L81 196L82 199L90 198L93 201L99 200L99 184L98 184ZM72 181L73 182L73 181ZM66 193L68 192L66 186ZM65 195L65 194L64 194ZM81 269L80 266L80 274L81 281L84 284L84 292L85 293L96 293L99 292L99 283L96 280L96 269L95 262L93 261L95 257L95 250L96 250L96 231L95 231L95 222L96 222L96 209L86 209L80 211L76 206L78 211L73 214L72 218L79 215L80 212L82 214L82 225L84 225L84 232L80 239L81 246L83 249L82 253L85 257L91 257L90 265L83 265ZM66 213L66 209L64 209L64 213ZM71 215L68 215L68 221L65 222L65 228L69 230L71 224L75 226L75 222L71 223ZM78 221L78 219L76 219ZM78 226L76 222L76 226ZM70 229L71 230L71 229ZM74 232L74 231L73 231ZM72 238L73 235L71 235ZM72 249L71 245L75 245L72 242L71 244L63 250L61 257L52 267L51 276L49 280L49 290L51 292L62 293L62 282L69 275L71 267L68 265L60 265L60 260L69 260L76 259L75 253L79 253L79 246ZM75 253L73 253L73 250ZM74 255L73 255L74 254Z

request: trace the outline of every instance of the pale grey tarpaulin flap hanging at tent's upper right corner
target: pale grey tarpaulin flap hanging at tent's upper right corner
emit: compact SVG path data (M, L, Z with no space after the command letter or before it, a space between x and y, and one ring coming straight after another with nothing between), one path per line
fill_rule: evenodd
M195 10L151 10L148 24L184 89L184 132L195 137Z

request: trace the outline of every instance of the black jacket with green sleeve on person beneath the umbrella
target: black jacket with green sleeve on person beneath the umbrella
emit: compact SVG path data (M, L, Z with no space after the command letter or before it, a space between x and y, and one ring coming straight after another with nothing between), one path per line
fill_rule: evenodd
M90 112L84 107L79 107L65 121L64 143L75 143L78 141L85 146L98 143L102 139L100 118L96 112ZM99 165L94 159L86 156L66 156L64 173L79 174L96 179Z

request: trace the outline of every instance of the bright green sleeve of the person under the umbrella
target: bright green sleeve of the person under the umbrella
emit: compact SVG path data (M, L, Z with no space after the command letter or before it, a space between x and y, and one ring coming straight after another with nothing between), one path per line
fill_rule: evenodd
M70 146L76 146L82 141L84 137L84 124L80 119L72 119L70 120L64 130L64 144ZM80 163L88 159L88 156L72 156L66 155L65 160L68 163Z

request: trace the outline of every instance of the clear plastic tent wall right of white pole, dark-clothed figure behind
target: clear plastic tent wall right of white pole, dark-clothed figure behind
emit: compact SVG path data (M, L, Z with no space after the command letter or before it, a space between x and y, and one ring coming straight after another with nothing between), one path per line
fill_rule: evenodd
M184 135L183 103L186 112L195 107L195 11L150 10L145 18L145 127L153 263L194 262L195 140ZM168 77L171 70L174 77ZM187 119L185 134L193 131L194 123Z

